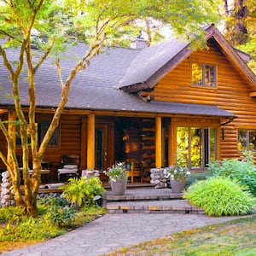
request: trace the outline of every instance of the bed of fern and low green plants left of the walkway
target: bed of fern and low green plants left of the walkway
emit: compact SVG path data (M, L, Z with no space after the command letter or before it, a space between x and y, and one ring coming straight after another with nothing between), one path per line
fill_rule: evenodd
M20 207L0 208L0 254L60 236L102 216L106 210L93 198L104 191L96 177L71 178L61 196L38 200L38 218L25 215Z

